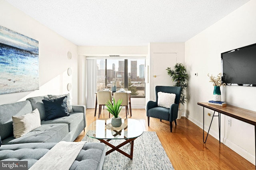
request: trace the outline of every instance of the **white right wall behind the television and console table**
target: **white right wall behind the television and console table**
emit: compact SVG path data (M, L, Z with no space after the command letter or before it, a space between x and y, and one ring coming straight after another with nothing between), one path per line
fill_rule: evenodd
M232 49L256 43L256 0L251 0L222 20L208 27L185 42L185 64L190 72L190 96L186 104L186 117L202 128L202 107L197 102L212 99L213 86L208 73L221 72L220 54ZM194 73L198 72L198 76ZM222 100L228 104L256 111L256 88L226 86L221 88ZM205 109L205 129L208 131L210 118ZM254 126L221 115L221 141L238 154L255 164ZM218 139L218 119L214 119L210 134Z

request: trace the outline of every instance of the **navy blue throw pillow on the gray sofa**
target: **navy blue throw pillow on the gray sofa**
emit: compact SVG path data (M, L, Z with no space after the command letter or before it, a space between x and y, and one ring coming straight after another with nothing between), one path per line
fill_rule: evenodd
M68 113L67 96L53 100L42 100L42 102L44 103L46 115L44 121L70 115Z

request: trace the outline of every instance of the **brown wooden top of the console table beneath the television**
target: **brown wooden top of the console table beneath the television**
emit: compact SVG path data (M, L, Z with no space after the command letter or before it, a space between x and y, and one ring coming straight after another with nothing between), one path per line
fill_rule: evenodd
M197 104L200 106L206 107L208 109L217 111L219 113L222 113L224 115L234 117L235 119L244 121L251 125L256 125L256 112L255 111L242 109L240 107L235 107L235 106L231 106L231 105L216 106L216 105L208 104L208 102L198 102Z

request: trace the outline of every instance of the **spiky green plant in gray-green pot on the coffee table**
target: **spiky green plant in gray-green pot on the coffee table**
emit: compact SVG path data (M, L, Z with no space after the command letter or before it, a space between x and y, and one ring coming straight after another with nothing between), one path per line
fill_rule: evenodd
M112 102L108 101L106 103L106 110L109 111L109 113L111 113L114 117L112 117L111 119L111 125L113 127L120 127L122 125L122 119L121 117L118 116L118 114L120 113L122 107L120 108L120 105L122 104L123 100L118 100L117 102L115 102L115 99L113 99L113 104Z

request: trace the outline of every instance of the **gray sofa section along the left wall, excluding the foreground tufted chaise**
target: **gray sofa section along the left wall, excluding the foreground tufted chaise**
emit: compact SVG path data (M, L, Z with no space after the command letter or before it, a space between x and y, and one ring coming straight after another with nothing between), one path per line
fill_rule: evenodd
M85 107L72 106L74 113L44 121L46 117L44 103L48 96L28 98L26 101L0 106L0 136L3 145L15 143L74 141L86 127ZM41 127L34 129L17 139L13 136L12 116L20 116L38 108Z

